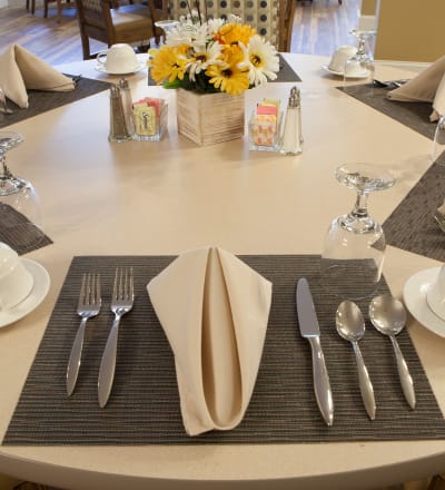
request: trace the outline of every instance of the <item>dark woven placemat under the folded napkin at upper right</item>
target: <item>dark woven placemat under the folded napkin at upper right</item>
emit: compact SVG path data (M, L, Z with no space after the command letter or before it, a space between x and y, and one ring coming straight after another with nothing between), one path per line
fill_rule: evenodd
M397 100L389 100L386 98L386 95L392 88L374 87L374 91L372 91L370 84L337 88L421 135L434 139L436 124L429 121L429 115L433 112L431 102L399 102Z

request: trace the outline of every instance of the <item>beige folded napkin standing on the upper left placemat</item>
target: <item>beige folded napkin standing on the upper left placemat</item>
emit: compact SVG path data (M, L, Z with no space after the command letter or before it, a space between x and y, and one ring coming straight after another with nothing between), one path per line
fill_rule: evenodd
M27 89L68 91L76 82L21 46L12 45L0 57L0 87L10 100L27 108Z

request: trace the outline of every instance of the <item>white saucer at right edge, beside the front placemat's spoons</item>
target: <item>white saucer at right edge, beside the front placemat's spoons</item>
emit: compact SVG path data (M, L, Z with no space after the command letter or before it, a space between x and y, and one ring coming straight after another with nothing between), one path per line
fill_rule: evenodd
M414 274L406 281L403 295L406 307L417 322L431 332L445 337L445 321L437 316L426 302L426 292L436 281L439 268L427 268Z

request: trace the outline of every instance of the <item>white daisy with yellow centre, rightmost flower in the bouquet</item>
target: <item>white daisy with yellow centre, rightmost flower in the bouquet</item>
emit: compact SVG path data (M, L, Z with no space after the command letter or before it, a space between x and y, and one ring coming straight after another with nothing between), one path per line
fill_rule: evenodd
M277 50L270 42L264 40L258 35L250 38L247 48L240 45L246 55L243 67L249 68L250 85L257 87L267 82L267 79L275 80L279 70L279 59Z

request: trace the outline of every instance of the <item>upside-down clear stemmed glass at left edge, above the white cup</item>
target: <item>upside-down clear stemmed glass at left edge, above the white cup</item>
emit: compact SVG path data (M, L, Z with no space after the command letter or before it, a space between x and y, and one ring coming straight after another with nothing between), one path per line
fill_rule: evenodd
M32 184L14 176L7 165L7 153L20 145L23 137L13 131L0 131L0 241L12 248L38 247L43 239L39 198Z

